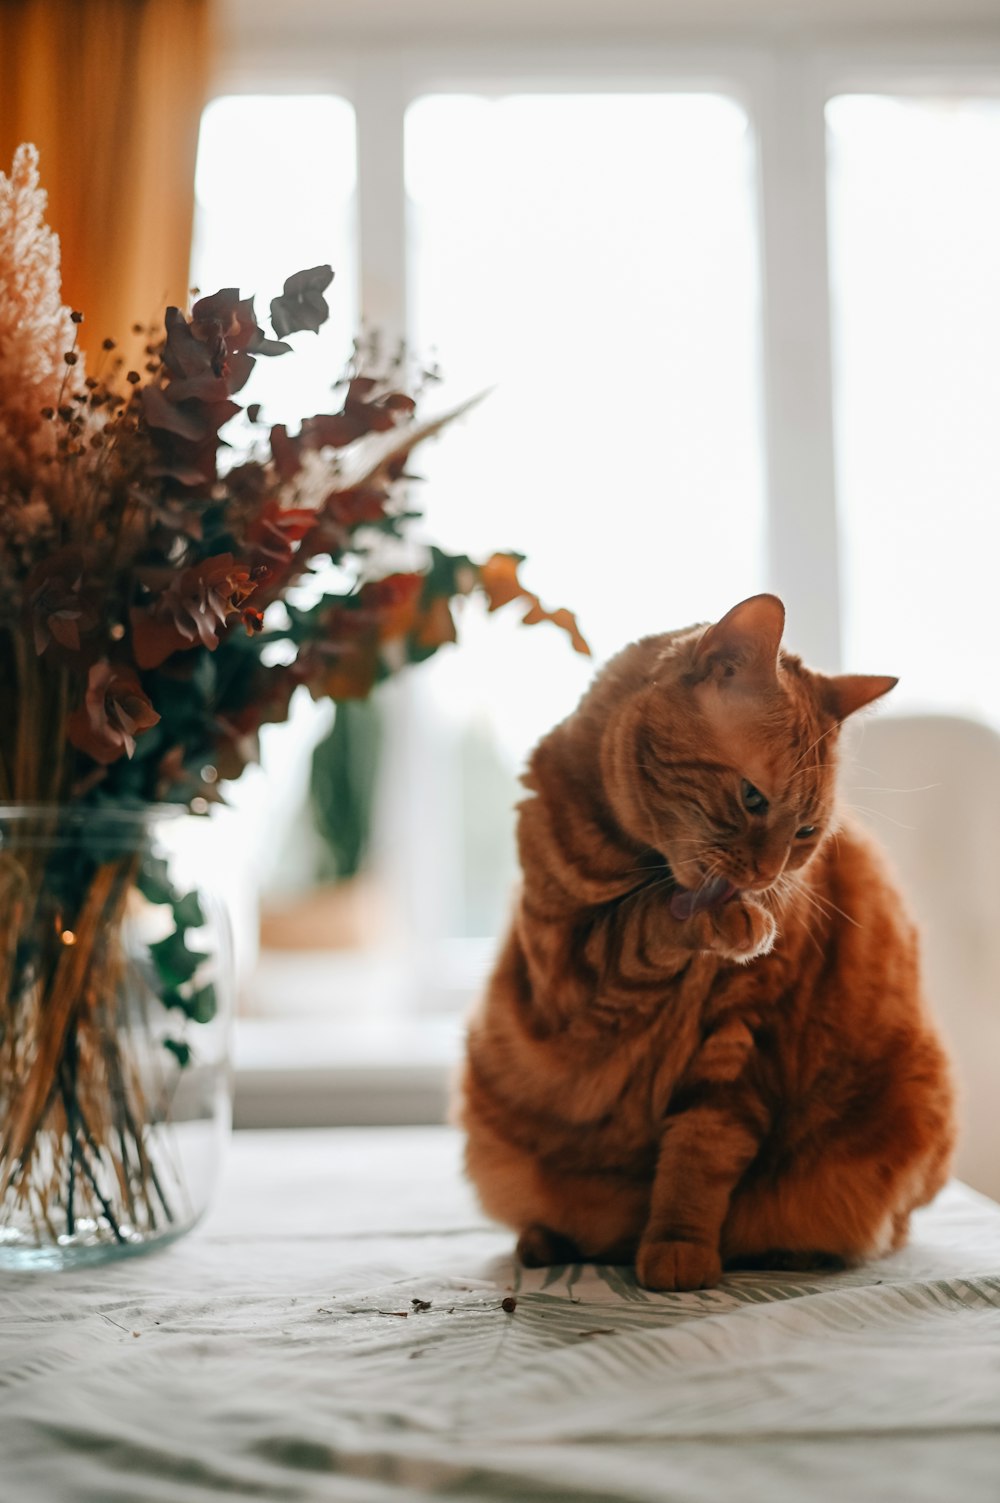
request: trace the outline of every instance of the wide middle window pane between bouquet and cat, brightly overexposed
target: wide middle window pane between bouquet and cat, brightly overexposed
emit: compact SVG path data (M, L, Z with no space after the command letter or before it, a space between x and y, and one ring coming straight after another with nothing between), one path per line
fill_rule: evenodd
M493 388L421 454L435 538L525 552L525 582L577 610L598 660L764 588L743 111L427 96L406 117L406 180L415 347L436 349L447 395ZM453 932L484 933L507 902L514 773L591 670L550 627L471 615L426 685L459 742Z

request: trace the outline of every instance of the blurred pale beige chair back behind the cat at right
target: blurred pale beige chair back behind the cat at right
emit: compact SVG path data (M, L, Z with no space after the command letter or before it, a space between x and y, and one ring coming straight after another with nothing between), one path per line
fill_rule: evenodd
M863 717L844 803L893 860L961 1085L955 1172L1000 1199L1000 735L958 715Z

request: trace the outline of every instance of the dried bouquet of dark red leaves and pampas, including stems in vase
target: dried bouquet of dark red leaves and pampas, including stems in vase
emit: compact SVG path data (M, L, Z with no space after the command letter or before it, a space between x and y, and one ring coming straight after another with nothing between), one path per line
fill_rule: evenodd
M456 639L463 595L522 601L586 651L519 555L391 567L418 517L409 454L448 421L420 421L398 361L358 350L337 410L298 433L233 400L323 323L328 266L287 280L271 334L224 289L137 331L141 370L105 340L90 373L44 212L23 146L0 174L0 1247L84 1222L128 1244L183 1216L153 1136L217 978L197 896L135 836L143 812L205 812L299 685L367 696ZM244 458L220 436L241 413ZM316 576L331 561L335 592ZM141 953L123 939L138 912L161 933ZM123 1043L137 1016L153 1073Z

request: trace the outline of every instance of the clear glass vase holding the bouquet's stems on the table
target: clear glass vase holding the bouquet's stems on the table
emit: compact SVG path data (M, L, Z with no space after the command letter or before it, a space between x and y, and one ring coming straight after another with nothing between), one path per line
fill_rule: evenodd
M161 1246L230 1126L212 821L0 806L0 1269Z

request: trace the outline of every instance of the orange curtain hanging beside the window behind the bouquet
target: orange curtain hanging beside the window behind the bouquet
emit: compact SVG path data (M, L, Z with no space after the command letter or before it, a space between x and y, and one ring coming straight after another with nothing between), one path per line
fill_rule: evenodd
M41 153L89 352L185 305L212 0L0 0L0 164Z

